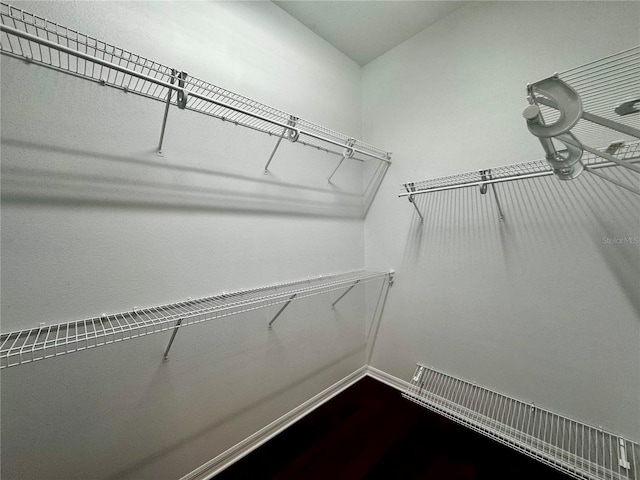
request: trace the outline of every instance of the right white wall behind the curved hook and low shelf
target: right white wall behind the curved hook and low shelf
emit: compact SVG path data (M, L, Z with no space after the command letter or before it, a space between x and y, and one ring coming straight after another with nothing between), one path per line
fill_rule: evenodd
M372 366L416 362L640 439L638 198L587 174L397 198L401 183L542 157L525 85L638 43L638 2L475 3L363 70L365 140L394 165L365 263L395 267ZM490 192L489 192L490 193Z

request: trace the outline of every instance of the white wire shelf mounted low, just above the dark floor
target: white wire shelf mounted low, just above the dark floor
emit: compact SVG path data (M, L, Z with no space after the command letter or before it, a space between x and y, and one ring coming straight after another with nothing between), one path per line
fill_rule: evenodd
M403 396L582 480L640 480L640 445L417 364Z

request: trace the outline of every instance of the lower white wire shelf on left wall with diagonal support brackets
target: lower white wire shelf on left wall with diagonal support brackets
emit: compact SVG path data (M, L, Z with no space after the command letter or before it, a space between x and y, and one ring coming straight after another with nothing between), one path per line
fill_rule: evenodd
M392 276L393 272L357 270L7 332L0 336L0 368L173 330L164 353L166 361L178 328L273 305L285 304L286 307L294 299L299 300L345 288L350 290L355 284L385 278L391 281ZM283 310L284 308L280 309L269 322L269 328Z

